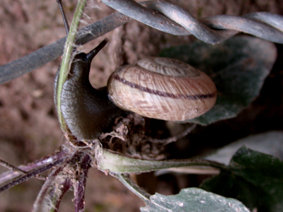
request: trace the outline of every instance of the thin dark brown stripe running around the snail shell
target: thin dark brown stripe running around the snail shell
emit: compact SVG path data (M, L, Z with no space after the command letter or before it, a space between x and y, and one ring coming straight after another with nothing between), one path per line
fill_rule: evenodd
M131 83L129 81L126 81L124 78L120 78L120 76L115 75L115 80L120 81L121 83L130 86L131 88L137 88L139 90L142 90L146 93L153 93L155 95L160 95L163 97L168 97L168 98L173 98L173 99L181 99L181 98L185 98L185 99L189 99L189 100L199 100L199 99L209 99L209 98L214 98L216 95L216 92L214 93L209 93L209 94L197 94L197 95L175 95L173 93L166 93L166 92L162 92L159 90L152 90L149 88L145 88L143 86L139 86L135 83Z

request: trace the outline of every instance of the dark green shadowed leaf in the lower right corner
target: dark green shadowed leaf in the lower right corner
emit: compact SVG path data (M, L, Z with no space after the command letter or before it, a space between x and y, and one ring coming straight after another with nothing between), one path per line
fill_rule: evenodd
M251 210L279 212L283 208L283 161L272 155L240 148L229 169L208 179L202 188L242 201Z

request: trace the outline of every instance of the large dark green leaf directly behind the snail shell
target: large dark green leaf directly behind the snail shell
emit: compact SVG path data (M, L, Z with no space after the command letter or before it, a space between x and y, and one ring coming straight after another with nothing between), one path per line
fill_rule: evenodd
M238 36L218 45L197 40L164 49L160 56L185 61L212 77L218 90L216 105L206 114L185 121L208 125L236 117L259 95L275 63L277 49L260 38Z

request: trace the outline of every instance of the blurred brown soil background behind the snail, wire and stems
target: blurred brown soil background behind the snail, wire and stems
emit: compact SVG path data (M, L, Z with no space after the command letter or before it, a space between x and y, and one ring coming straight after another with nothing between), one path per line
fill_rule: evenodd
M195 17L217 14L241 16L255 11L283 14L283 1L275 0L192 0L171 1L185 8ZM76 1L64 0L67 17L71 20ZM85 13L87 23L108 16L113 10L97 1L88 2ZM86 25L86 23L82 23ZM0 64L6 64L65 36L64 25L57 2L29 0L0 1ZM94 59L91 82L98 88L104 86L108 76L121 64L133 64L137 59L154 56L164 47L192 42L192 36L168 35L131 21L106 34L110 42ZM83 47L88 52L98 42ZM199 127L187 139L174 146L171 155L187 158L207 149L223 146L248 134L270 129L282 129L282 45L277 45L279 59L267 78L262 93L253 105L236 119L219 122L207 128ZM60 64L58 58L31 73L0 86L0 158L13 165L29 163L53 153L63 143L62 132L54 110L53 81ZM279 124L278 124L279 122ZM225 133L224 133L225 132ZM202 134L200 134L202 133ZM207 139L209 135L210 139ZM212 143L216 139L217 143ZM195 142L194 142L195 141ZM197 143L202 143L201 145ZM4 167L0 171L4 172ZM173 184L178 189L187 185L187 176L156 178L144 175L145 187L154 183L151 192L172 194ZM178 180L176 179L178 178ZM185 179L183 179L185 178ZM147 182L147 179L152 179ZM191 181L194 181L190 179ZM196 182L198 179L195 179ZM191 183L193 184L193 183ZM30 179L0 194L0 211L31 211L33 201L42 182ZM73 211L72 193L67 193L60 211ZM117 179L91 169L86 189L88 211L139 211L144 206L137 196L129 192Z

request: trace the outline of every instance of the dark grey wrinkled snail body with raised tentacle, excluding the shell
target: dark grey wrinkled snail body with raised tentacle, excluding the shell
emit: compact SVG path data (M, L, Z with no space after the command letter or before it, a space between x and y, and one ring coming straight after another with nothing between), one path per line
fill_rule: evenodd
M110 128L115 118L123 113L108 98L107 88L96 89L89 81L91 61L107 41L98 45L88 54L76 54L71 64L70 73L61 93L62 114L71 133L77 139L97 139L101 132ZM54 82L54 101L57 102L57 80Z

